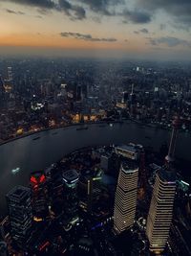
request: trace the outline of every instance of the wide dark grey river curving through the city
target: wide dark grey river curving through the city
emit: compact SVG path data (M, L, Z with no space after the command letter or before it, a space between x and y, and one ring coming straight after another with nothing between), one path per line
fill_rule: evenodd
M0 146L0 215L5 213L5 195L15 185L27 185L33 171L43 170L63 155L74 150L96 145L125 144L129 142L151 146L159 151L170 139L170 131L139 126L132 122L91 124L88 129L76 130L78 126L41 131ZM33 138L40 137L37 140ZM191 159L191 134L180 133L176 154ZM20 168L12 175L11 170Z

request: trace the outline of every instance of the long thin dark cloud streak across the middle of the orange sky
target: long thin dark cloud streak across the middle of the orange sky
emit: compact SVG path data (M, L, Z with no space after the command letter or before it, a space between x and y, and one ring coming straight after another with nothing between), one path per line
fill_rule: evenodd
M60 33L60 35L62 37L72 37L75 39L92 41L92 42L116 42L117 41L117 39L113 37L99 38L99 37L93 37L90 34L80 34L80 33L73 33L73 32L62 32Z

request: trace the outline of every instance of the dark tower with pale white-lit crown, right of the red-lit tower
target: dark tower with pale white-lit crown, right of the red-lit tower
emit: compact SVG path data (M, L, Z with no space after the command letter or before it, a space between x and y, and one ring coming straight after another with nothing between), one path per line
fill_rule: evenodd
M69 170L62 174L64 181L64 217L66 222L78 218L77 182L79 175L75 170Z

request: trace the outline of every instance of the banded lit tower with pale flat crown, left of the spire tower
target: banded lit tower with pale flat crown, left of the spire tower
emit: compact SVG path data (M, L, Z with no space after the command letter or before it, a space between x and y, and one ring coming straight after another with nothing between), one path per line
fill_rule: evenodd
M119 234L135 221L138 193L138 166L122 163L117 181L114 209L114 229Z

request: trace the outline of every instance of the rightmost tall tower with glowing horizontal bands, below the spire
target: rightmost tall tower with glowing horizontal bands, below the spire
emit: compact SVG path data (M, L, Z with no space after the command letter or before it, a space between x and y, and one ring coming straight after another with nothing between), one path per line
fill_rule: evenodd
M175 174L166 169L159 170L156 175L146 227L150 250L155 253L161 253L164 250L169 236L175 192Z

